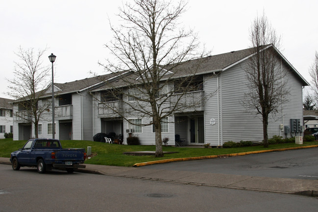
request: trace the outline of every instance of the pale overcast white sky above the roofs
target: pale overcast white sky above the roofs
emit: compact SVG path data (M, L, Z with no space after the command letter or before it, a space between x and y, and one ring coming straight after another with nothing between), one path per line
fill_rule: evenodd
M125 2L125 1L123 1ZM248 29L263 10L282 36L281 53L310 82L308 69L318 51L318 0L189 0L182 16L195 28L212 55L250 47ZM54 82L104 74L98 66L109 57L103 46L112 39L108 17L117 25L120 0L1 0L0 97L10 98L5 78L12 79L18 47L48 47L55 54ZM50 66L49 58L44 62Z

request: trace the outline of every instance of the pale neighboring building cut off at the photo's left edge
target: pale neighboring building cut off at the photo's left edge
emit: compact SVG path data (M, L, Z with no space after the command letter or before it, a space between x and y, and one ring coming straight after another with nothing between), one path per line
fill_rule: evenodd
M12 99L0 98L0 139L4 133L13 133L13 106Z

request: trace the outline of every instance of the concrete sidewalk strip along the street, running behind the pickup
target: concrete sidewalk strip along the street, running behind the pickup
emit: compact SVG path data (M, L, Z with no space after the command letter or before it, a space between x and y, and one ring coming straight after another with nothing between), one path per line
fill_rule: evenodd
M0 158L0 164L11 165L9 158ZM79 169L78 172L196 186L318 196L318 180L251 177L244 175L158 170L109 165L85 165L86 168Z

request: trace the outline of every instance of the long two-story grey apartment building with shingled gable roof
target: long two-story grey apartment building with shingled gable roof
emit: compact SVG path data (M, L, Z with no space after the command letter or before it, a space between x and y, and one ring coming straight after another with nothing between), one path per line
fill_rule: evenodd
M289 102L285 103L280 111L277 111L276 118L269 120L269 138L273 135L292 137L295 134L285 134L284 126L290 126L290 119L303 119L302 88L308 86L308 83L275 47L271 45L268 47L276 50L277 59L280 60L277 69L287 72L282 78L282 82L287 82L287 87L290 88ZM175 144L174 136L176 134L179 134L186 144L193 145L210 143L213 146L221 146L226 141L263 140L261 119L246 113L245 107L242 105L248 83L244 67L250 56L252 56L251 49L244 49L209 56L202 60L204 62L196 71L196 75L197 79L203 82L203 86L184 96L184 102L200 102L200 105L166 118L162 138L169 138L169 145ZM189 68L193 63L196 63L196 60L185 62L183 67ZM182 76L184 75L181 71L178 77ZM103 80L116 83L125 89L125 84L121 83L120 78L115 78L112 74L103 75L103 78ZM103 80L100 77L93 77L65 84L55 84L58 94L55 109L57 126L55 138L92 141L95 134L102 132L122 135L125 143L128 132L133 132L133 135L139 137L141 144L155 144L155 133L151 125L131 125L118 114L105 108L105 104L109 104L120 110L125 105L122 101L102 97L110 88ZM173 88L173 84L169 87ZM212 93L212 97L202 101L202 97ZM127 96L121 98L130 101ZM173 103L172 98L171 103ZM133 101L133 99L131 100ZM14 111L16 110L14 109ZM68 111L70 113L64 115ZM123 114L123 116L136 123L149 123L151 120L150 117L138 116L138 113L137 115ZM41 137L51 137L48 130L48 126L51 124L50 117L51 113L48 112L41 121ZM14 131L19 131L19 134L14 134L16 135L14 140L26 139L21 133L23 126L24 123L15 121ZM29 127L31 131L31 124ZM31 132L30 136L33 135L34 132Z

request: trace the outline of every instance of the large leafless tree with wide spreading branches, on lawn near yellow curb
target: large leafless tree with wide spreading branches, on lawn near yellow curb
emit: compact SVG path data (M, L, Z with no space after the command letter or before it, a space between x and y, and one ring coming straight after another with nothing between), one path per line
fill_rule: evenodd
M114 39L105 45L117 61L107 60L107 65L101 64L120 79L116 83L107 82L108 92L124 101L125 110L110 109L133 125L153 125L156 157L163 156L162 123L177 111L201 103L184 101L189 91L203 88L196 71L204 60L204 51L198 52L196 33L177 27L186 5L183 0L176 4L163 0L134 0L133 4L123 5L118 15L123 24L119 28L111 25ZM197 58L202 59L184 62ZM148 117L151 121L131 122L127 114Z

